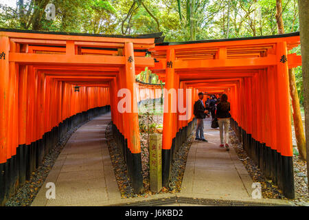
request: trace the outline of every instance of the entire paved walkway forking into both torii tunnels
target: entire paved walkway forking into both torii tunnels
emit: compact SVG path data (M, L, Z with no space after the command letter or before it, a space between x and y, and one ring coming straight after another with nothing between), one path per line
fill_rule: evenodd
M189 197L286 203L279 199L252 199L252 180L233 148L219 148L218 129L205 121L205 142L190 148L180 193L163 193L122 199L116 183L104 130L111 121L106 113L84 124L69 138L45 179L32 206L112 206L151 199ZM48 182L56 185L56 199L46 199ZM173 206L196 206L172 204Z

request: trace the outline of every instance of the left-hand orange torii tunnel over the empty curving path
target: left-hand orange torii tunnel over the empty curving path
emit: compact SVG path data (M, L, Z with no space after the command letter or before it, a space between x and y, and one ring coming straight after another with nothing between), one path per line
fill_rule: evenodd
M155 65L146 53L160 37L0 29L1 204L67 131L110 109L133 187L142 190L133 84L135 74ZM119 89L132 94L128 112L117 109Z

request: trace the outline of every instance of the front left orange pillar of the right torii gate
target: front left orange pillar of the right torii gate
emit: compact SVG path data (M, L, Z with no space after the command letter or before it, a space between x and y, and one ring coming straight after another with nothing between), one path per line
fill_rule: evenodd
M175 89L176 76L174 72L175 52L169 49L166 54L165 67L165 91ZM173 94L173 93L172 93ZM173 104L176 97L164 94L164 109L168 109L163 113L163 135L162 135L162 185L168 187L170 181L170 168L172 164L172 139L174 138L174 119L176 113L172 113Z

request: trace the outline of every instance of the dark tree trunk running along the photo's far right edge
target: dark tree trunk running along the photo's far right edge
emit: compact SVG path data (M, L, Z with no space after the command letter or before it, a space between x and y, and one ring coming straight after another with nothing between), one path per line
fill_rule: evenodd
M301 57L304 86L304 106L305 106L305 124L306 139L309 140L309 1L299 0L299 30L301 37ZM306 142L307 148L307 173L309 177L309 141ZM309 185L308 185L309 186ZM309 188L308 188L309 191Z

